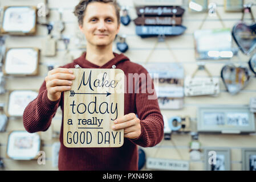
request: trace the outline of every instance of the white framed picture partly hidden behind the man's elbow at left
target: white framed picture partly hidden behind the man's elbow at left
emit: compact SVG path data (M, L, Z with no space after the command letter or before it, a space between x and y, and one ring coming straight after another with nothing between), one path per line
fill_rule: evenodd
M9 93L8 117L22 117L27 105L38 96L34 90L13 90Z

